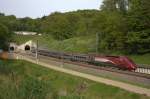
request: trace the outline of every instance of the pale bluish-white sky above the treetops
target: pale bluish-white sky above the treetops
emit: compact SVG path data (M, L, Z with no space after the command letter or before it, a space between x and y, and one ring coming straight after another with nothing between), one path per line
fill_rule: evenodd
M52 12L99 9L102 0L0 0L0 12L19 18L38 18Z

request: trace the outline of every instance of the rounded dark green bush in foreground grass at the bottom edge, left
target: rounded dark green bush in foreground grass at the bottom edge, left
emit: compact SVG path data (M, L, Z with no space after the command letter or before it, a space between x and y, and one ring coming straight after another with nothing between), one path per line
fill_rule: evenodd
M51 87L46 81L34 77L25 77L19 86L20 99L45 99Z

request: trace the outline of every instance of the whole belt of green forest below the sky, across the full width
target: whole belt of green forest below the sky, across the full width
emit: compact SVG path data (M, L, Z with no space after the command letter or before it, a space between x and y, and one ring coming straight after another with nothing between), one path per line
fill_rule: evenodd
M150 53L149 0L103 0L99 10L54 12L32 19L0 13L0 49L7 49L14 31L33 31L56 40L98 35L98 51Z

